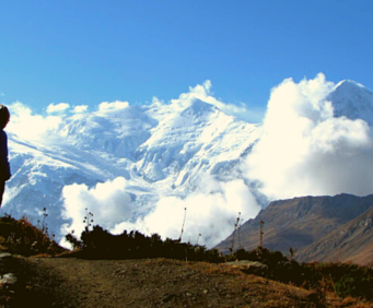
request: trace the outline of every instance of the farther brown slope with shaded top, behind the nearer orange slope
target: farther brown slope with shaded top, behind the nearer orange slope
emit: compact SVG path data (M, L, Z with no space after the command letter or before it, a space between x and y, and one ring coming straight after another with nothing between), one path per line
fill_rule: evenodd
M260 221L264 224L264 246L288 252L289 248L296 248L300 251L300 260L307 257L308 261L320 256L313 254L313 249L322 238L331 235L335 230L370 210L373 205L373 194L368 197L355 197L351 194L338 194L335 197L303 197L290 200L271 202L263 210L255 220L247 221L235 233L234 249L241 247L246 250L254 249L259 245ZM373 210L372 210L373 211ZM373 213L373 212L372 212ZM359 224L359 222L355 222ZM349 233L349 229L346 230ZM229 251L232 247L233 234L220 242L217 248L221 251ZM313 248L310 248L313 247ZM302 249L306 251L302 253Z

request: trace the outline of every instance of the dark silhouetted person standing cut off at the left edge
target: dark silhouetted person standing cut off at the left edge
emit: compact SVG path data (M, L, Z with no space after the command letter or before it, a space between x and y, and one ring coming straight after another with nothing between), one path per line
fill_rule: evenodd
M5 189L5 181L12 176L8 161L8 137L4 132L10 119L10 114L4 105L0 105L0 206Z

